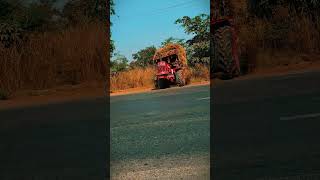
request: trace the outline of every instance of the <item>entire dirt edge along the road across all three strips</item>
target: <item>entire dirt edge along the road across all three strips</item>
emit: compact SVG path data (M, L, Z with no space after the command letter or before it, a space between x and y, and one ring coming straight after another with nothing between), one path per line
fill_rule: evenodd
M276 68L258 69L255 72L240 76L234 80L245 80L252 78L263 78L270 76L281 76L287 74L304 73L308 71L320 71L320 61L304 62L299 64L292 64L287 66L279 66ZM224 81L213 79L211 85L223 83ZM190 86L209 85L210 81L195 82ZM127 94L137 94L144 92L151 92L152 88L132 88L123 91L110 93L110 96L120 96ZM8 100L0 100L0 110L19 108L34 105L45 105L51 103L67 102L83 99L103 98L107 96L105 87L101 83L88 83L75 86L63 86L48 90L34 90L19 92L13 98Z

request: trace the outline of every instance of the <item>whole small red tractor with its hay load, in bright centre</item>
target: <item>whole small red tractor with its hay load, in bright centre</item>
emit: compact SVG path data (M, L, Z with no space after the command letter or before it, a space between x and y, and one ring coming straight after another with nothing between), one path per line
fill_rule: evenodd
M186 52L179 44L168 44L156 51L153 56L156 64L154 85L164 89L170 85L184 86L189 82Z

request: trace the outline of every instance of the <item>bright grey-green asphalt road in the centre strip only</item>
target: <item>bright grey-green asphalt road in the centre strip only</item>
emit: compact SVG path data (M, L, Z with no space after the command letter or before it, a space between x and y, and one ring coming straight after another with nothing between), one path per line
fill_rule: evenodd
M209 85L115 96L110 106L113 179L209 179Z

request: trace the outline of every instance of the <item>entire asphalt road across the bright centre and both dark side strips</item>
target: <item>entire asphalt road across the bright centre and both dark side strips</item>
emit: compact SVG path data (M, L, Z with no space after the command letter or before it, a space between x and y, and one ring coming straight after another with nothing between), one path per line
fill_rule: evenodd
M211 111L209 97L208 86L111 97L114 179L208 178L210 112L215 179L319 177L319 72L225 81ZM105 102L1 110L0 179L103 177Z

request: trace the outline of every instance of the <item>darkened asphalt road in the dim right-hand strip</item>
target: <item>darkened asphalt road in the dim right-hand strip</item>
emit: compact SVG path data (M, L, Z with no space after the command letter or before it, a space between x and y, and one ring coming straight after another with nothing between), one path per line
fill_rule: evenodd
M211 93L214 179L320 179L320 72L226 81Z

